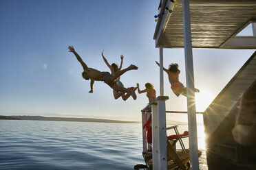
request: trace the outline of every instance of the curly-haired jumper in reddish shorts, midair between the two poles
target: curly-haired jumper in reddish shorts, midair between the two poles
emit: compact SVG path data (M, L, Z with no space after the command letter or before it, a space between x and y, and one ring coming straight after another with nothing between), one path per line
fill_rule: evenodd
M156 61L156 64L160 66L160 64ZM179 81L179 74L180 70L178 69L179 65L177 63L171 63L169 65L169 69L164 69L165 72L167 72L167 75L169 77L169 82L171 84L171 90L173 90L173 93L178 97L179 95L186 96L186 87ZM198 88L195 88L195 92L199 93Z

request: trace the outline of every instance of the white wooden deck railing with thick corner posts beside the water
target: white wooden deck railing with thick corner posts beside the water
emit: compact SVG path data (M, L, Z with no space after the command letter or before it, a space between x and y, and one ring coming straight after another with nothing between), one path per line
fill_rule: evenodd
M182 111L166 111L165 101L167 96L159 96L141 110L142 112L142 145L143 153L152 151L152 169L167 169L167 121L166 113L187 114ZM203 112L196 112L202 114ZM152 143L147 143L145 123L151 116Z

